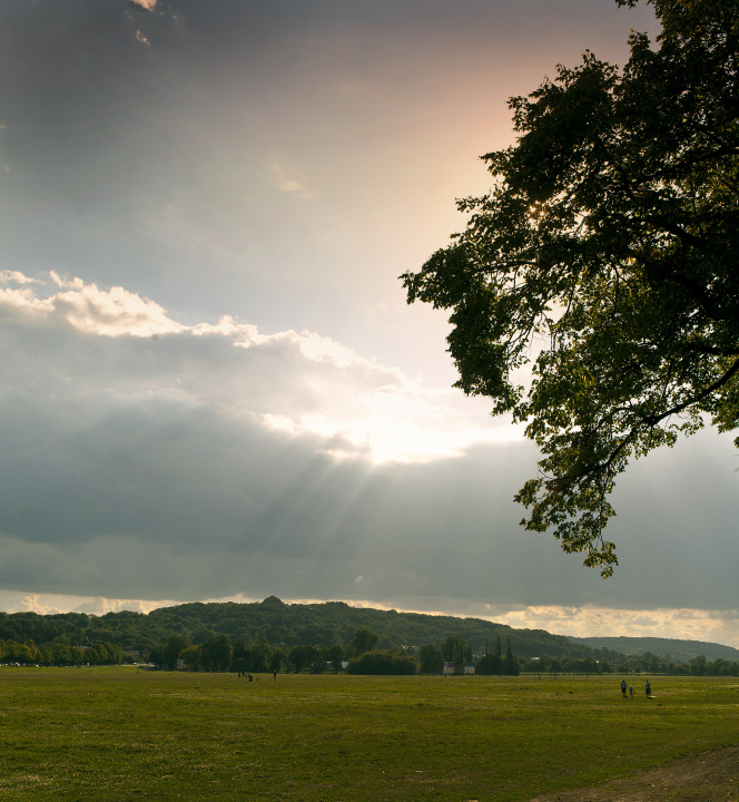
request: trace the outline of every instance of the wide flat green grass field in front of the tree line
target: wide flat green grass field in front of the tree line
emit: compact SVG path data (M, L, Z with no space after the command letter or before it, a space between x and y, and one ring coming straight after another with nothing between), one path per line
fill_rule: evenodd
M0 668L0 799L525 800L739 743L736 677Z

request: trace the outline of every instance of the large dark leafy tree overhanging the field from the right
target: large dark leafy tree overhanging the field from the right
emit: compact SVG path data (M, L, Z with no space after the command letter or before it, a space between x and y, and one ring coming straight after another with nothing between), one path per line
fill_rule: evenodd
M521 524L603 576L629 459L704 418L739 426L739 3L648 2L659 47L632 33L622 70L585 52L511 98L518 143L483 157L493 189L402 276L408 303L452 310L456 387L541 450Z

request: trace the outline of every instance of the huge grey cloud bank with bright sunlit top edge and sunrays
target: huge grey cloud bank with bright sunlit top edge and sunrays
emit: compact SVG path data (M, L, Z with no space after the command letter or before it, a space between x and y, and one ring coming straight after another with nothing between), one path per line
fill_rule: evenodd
M484 402L316 332L186 324L120 286L55 273L42 292L16 278L0 288L0 588L104 599L361 588L398 609L511 620L511 606L733 606L728 437L723 461L702 433L633 467L609 528L621 565L603 583L518 526L512 496L535 449ZM706 506L691 511L696 493Z

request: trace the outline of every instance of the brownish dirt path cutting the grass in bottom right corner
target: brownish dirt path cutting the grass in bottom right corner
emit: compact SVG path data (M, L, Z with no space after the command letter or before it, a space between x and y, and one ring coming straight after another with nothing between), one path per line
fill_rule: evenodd
M680 757L631 780L530 802L739 802L739 746Z

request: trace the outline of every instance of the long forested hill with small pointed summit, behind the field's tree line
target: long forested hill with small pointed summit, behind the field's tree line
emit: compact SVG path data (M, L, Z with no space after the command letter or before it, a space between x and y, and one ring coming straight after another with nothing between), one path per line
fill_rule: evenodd
M456 635L470 642L476 653L482 653L486 643L493 648L497 635L503 643L510 635L520 657L593 656L590 646L541 629L512 629L479 618L358 608L343 602L288 605L275 596L255 604L184 604L161 607L148 615L0 613L0 639L23 643L30 638L41 645L61 637L69 638L72 646L111 643L141 652L161 645L174 633L186 635L195 645L205 643L214 634L226 634L234 643L244 640L247 645L265 636L273 647L287 649L337 643L346 646L356 629L363 627L380 635L381 648L428 643L439 646L449 635ZM598 657L612 659L613 656L602 652Z

